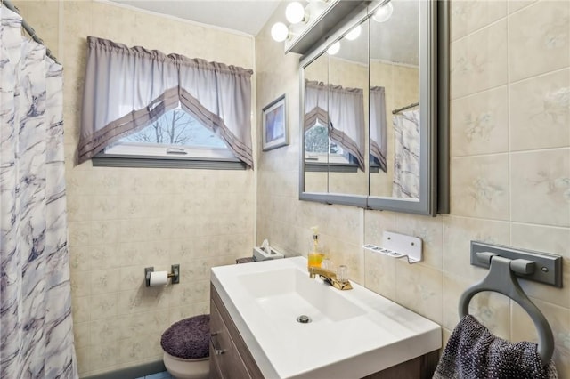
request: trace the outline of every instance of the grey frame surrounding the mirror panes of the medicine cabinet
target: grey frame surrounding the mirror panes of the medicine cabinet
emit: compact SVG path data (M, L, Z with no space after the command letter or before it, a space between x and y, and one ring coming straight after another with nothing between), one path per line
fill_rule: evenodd
M378 2L348 17L343 26L325 36L324 43L300 59L299 200L432 216L449 213L449 4L437 0L418 1L420 20L428 20L419 30L419 199L304 190L305 68L354 25L367 20L382 4ZM370 194L370 177L368 186Z

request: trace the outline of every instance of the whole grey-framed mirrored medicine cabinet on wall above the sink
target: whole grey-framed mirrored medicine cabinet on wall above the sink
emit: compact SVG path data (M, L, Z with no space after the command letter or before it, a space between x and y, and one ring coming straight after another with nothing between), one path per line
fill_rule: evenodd
M363 4L301 58L299 198L448 213L447 2Z

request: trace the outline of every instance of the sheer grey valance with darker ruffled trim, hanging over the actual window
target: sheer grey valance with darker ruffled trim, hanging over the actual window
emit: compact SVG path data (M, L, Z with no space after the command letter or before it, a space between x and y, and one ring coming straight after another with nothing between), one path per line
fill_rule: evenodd
M182 108L253 167L250 69L87 37L77 161Z

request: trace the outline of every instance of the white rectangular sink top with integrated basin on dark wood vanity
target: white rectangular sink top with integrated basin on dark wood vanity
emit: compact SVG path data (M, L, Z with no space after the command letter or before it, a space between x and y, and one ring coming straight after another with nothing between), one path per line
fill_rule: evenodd
M360 378L442 346L436 323L309 278L304 257L216 267L212 283L266 378Z

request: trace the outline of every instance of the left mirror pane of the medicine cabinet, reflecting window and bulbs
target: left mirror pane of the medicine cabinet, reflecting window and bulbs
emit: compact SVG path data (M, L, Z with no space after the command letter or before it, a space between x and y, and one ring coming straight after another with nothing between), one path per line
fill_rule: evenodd
M328 74L326 78L324 73ZM322 172L315 174L319 159L318 164L326 170L326 192L368 195L367 115L368 21L365 21L305 68L305 191L322 189L322 185L315 183L324 180ZM326 143L320 139L325 133ZM318 152L316 146L320 146ZM326 157L322 155L324 151ZM315 157L317 153L320 155Z

